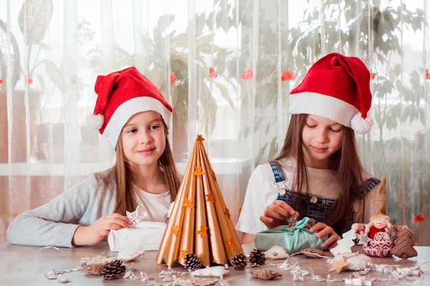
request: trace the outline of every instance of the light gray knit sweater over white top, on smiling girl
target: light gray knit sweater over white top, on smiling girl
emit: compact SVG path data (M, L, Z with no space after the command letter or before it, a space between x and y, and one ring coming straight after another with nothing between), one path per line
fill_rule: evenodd
M115 210L115 176L112 169L105 172L110 179L107 184L98 182L93 174L47 204L16 217L8 227L9 243L73 247L78 226L89 226Z

